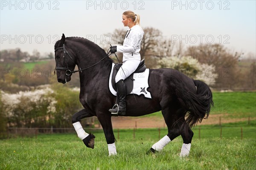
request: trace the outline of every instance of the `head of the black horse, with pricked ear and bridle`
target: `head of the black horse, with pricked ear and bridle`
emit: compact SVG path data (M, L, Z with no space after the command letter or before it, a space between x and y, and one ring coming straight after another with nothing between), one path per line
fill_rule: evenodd
M66 47L65 35L62 34L61 40L55 43L55 62L58 82L63 84L71 80L72 71L76 67L75 57L71 49Z

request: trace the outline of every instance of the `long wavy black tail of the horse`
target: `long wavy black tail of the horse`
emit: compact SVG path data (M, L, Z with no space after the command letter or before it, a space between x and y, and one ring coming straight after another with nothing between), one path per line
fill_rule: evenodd
M202 119L207 119L213 106L212 91L209 86L200 80L194 80L194 83L197 88L196 93L183 88L176 89L178 101L187 111L186 122L180 130L186 128L186 124L192 127Z

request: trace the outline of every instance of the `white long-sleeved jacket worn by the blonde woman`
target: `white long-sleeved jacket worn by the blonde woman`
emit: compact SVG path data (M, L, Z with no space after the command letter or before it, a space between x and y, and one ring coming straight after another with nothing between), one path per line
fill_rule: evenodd
M116 45L116 51L123 53L123 62L128 59L140 60L140 43L143 35L143 29L135 25L126 32L123 45Z

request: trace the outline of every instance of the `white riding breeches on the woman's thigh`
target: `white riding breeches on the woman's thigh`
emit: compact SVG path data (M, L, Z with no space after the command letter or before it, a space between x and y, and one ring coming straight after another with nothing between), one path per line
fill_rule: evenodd
M139 66L140 60L129 59L123 62L122 67L116 74L116 82L129 77Z

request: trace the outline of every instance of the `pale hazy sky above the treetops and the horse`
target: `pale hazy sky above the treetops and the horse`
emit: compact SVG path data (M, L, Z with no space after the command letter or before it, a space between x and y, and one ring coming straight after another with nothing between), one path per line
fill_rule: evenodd
M0 0L0 50L54 53L62 33L114 45L108 33L129 29L122 25L128 10L140 15L142 28L157 28L172 43L220 43L256 54L255 0Z

